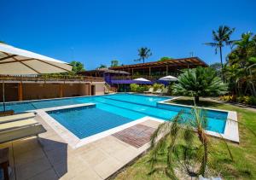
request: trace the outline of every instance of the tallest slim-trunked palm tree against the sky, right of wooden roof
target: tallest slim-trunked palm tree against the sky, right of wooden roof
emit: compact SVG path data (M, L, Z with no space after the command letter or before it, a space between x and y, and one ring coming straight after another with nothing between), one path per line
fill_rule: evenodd
M222 48L224 45L230 45L235 41L230 40L231 34L235 31L235 28L230 29L229 26L219 26L217 31L212 31L212 43L206 43L215 48L215 53L217 54L219 49L220 55L220 63L221 67L223 68L223 60L222 60ZM224 76L223 76L224 78Z

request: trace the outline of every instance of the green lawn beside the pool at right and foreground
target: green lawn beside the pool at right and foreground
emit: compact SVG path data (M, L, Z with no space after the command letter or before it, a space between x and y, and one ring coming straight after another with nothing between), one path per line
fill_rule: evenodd
M193 105L193 101L189 97L183 97L173 102ZM240 144L228 142L234 156L233 161L230 160L224 143L217 138L211 138L212 145L216 149L213 152L216 162L212 165L212 169L216 171L215 176L221 175L224 179L256 179L256 111L208 100L201 100L198 106L236 111L240 122ZM143 155L125 171L119 173L115 179L169 179L160 172L148 175L150 171L148 157L148 153Z

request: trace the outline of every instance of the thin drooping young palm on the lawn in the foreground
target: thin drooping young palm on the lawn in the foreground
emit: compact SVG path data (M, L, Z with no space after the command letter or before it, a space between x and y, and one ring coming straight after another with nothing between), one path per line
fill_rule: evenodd
M151 136L149 174L163 171L168 177L177 179L176 170L180 170L190 177L206 176L208 167L215 161L206 128L205 112L197 107L193 107L190 114L179 112L159 125ZM223 142L233 160L228 144Z

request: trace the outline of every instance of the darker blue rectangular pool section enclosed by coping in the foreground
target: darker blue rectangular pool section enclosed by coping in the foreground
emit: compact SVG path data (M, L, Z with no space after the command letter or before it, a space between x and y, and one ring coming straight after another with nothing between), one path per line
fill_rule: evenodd
M52 111L49 115L80 139L131 122L131 119L95 107Z

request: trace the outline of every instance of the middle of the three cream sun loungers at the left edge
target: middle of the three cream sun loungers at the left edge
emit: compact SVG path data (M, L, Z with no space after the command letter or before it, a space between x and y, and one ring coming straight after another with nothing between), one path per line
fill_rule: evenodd
M18 120L10 123L3 123L0 124L0 132L1 131L8 131L15 128L25 127L25 126L31 126L31 125L37 125L38 121L35 119L24 119L24 120Z

